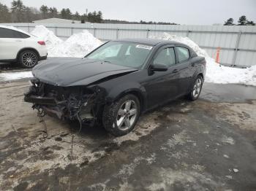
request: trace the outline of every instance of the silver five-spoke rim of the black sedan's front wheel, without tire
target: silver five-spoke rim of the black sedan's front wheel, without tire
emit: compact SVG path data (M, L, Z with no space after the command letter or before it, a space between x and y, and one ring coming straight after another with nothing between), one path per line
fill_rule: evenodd
M128 100L121 105L116 116L116 125L120 130L127 130L135 123L138 114L137 104Z

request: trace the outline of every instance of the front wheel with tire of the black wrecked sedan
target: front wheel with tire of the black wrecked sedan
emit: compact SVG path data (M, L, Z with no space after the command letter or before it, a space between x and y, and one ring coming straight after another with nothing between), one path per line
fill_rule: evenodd
M135 128L139 116L140 101L135 95L128 94L105 106L102 122L109 133L114 136L124 136Z

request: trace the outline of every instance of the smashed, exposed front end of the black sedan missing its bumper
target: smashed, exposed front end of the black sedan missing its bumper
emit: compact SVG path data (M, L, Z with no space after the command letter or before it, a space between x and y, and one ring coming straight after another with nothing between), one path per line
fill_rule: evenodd
M60 87L32 79L24 101L51 117L94 125L105 105L105 91L98 86Z

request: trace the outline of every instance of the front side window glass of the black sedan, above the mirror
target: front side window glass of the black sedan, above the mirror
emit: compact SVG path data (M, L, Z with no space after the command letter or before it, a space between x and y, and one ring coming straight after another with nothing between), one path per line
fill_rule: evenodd
M176 63L173 47L160 50L157 57L154 58L154 61L153 61L153 64L156 64L156 63L164 64L167 67L173 66Z

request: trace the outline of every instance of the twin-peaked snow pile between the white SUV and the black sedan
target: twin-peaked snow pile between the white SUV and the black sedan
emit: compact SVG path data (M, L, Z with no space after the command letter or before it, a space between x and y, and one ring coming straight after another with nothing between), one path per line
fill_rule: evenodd
M36 26L31 34L45 41L49 57L83 57L102 44L87 30L73 34L66 41L59 39L45 26Z

